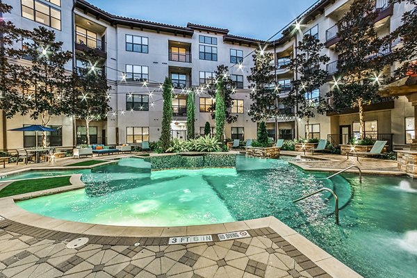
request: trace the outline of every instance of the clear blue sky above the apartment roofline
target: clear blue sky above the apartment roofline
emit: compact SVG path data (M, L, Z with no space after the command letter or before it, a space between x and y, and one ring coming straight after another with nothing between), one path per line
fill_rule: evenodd
M316 0L87 0L114 15L177 26L187 22L227 28L268 40Z

